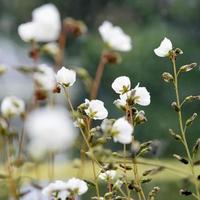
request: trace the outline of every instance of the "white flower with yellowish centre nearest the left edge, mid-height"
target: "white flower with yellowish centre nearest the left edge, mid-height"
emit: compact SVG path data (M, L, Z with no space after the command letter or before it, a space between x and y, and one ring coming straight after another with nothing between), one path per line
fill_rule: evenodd
M25 103L15 96L8 96L2 100L1 113L5 118L21 115L25 112Z

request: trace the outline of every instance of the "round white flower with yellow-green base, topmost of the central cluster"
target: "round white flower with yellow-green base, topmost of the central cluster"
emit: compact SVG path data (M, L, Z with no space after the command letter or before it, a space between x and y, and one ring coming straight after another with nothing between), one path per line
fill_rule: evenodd
M130 90L130 88L131 81L127 76L120 76L116 78L112 83L112 89L118 94L123 94Z

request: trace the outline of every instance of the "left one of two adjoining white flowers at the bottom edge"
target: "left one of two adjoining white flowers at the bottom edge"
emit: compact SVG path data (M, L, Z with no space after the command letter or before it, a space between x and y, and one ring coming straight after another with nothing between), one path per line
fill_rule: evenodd
M57 197L61 198L61 200L65 200L69 196L67 183L64 181L55 181L42 190L42 194L51 199L54 197L55 193L58 193Z

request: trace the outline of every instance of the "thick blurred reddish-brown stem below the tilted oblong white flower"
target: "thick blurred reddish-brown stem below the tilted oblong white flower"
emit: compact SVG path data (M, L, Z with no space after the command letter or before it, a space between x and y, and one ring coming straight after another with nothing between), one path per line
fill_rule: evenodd
M97 68L97 71L96 71L95 79L94 79L93 84L92 84L90 99L96 99L96 97L98 95L99 86L100 86L101 78L103 76L103 72L104 72L104 68L105 68L106 63L107 63L107 61L102 55L100 62L99 62L99 65L98 65L98 68Z

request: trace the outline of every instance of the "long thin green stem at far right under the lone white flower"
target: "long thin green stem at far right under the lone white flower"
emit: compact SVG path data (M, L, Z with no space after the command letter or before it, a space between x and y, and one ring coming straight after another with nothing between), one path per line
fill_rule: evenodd
M194 178L194 184L195 184L197 197L200 200L198 182L197 182L197 179L196 179L194 166L193 166L193 161L192 161L192 157L191 157L191 154L190 154L190 151L189 151L189 147L188 147L188 143L187 143L187 139L186 139L186 135L185 135L185 130L184 130L184 126L183 126L182 108L180 106L179 89L178 89L178 77L177 77L177 69L176 69L176 56L173 55L171 60L172 60L173 71L174 71L174 89L175 89L175 93L176 93L176 103L177 103L177 106L179 108L179 110L178 110L178 121L179 121L181 136L182 136L183 144L184 144L184 147L185 147L185 150L186 150L186 153L187 153L187 157L189 159L190 169L191 169L191 172L192 172L192 175L193 175L193 178Z

